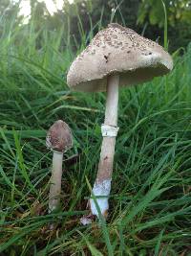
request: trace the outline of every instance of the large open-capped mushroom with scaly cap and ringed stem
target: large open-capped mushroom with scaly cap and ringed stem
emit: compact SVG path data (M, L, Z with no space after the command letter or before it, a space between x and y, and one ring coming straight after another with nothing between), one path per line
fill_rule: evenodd
M101 215L106 218L109 209L108 197L118 131L118 87L151 81L154 77L167 74L172 68L172 58L158 43L117 23L111 23L108 28L98 32L89 46L74 59L67 75L70 88L107 93L105 121L101 126L103 140L93 187L96 202L94 198L89 200L91 215L100 218L98 206ZM86 224L91 222L89 220L81 221Z

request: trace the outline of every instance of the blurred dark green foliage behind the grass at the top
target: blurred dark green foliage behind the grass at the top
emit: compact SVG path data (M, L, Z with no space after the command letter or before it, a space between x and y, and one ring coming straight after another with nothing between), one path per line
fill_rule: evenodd
M106 27L112 21L162 43L162 3L167 12L170 50L185 47L191 38L191 0L75 0L73 4L66 0L63 10L55 12L54 15L50 15L43 2L31 0L31 20L38 24L37 30L41 26L46 26L51 31L60 27L68 30L74 48L81 45L85 37L90 38L90 32L96 34L100 26ZM1 1L0 12L4 15L15 15L17 11L18 5L11 0ZM18 23L21 20L22 17L17 17Z

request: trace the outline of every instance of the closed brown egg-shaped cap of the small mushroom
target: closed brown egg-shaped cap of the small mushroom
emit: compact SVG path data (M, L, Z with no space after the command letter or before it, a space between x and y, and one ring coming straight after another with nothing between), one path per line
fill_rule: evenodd
M53 151L68 151L73 147L73 136L69 126L62 120L56 121L49 129L46 145Z

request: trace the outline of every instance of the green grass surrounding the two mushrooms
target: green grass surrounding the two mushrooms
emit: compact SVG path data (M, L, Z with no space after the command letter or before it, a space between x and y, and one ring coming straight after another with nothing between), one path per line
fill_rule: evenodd
M37 32L34 20L12 24L13 17L1 19L0 254L189 255L191 47L174 55L169 76L120 90L109 219L81 226L96 177L105 95L68 89L75 54L63 29L42 24ZM65 156L61 209L48 214L52 152L45 136L57 119L73 129L74 149ZM67 161L76 153L76 162Z

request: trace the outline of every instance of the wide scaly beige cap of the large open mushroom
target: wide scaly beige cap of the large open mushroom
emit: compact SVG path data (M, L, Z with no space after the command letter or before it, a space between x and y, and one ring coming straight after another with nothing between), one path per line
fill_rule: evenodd
M118 74L124 86L150 81L172 68L172 58L157 42L111 23L74 59L67 83L76 91L105 91L111 74Z

